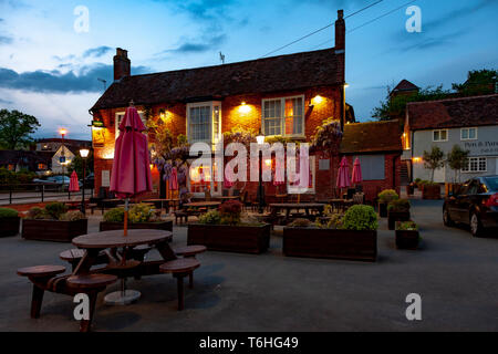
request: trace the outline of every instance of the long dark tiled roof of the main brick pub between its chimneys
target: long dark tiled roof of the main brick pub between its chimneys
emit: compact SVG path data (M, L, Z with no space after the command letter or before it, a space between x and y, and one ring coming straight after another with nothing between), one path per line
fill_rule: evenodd
M195 101L250 93L302 90L344 82L344 54L334 49L280 55L232 64L123 77L92 111Z

